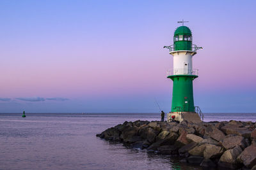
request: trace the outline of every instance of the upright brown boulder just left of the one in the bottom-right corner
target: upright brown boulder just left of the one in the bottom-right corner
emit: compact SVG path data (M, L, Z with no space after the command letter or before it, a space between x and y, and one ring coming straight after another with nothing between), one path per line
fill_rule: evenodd
M243 152L240 146L236 146L230 150L226 150L220 157L221 162L227 162L229 164L236 164L237 156Z

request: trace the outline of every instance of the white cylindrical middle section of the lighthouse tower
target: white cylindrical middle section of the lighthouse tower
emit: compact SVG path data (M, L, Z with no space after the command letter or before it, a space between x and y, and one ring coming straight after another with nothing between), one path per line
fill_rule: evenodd
M192 57L196 54L193 51L174 51L173 55L173 74L193 74Z

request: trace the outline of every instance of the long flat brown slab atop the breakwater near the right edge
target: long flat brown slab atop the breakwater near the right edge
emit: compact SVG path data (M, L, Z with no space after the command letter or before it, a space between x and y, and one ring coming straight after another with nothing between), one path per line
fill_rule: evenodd
M243 136L244 138L250 138L251 131L246 127L240 127L239 125L225 125L221 127L221 131L225 132L225 134L237 134L239 136Z

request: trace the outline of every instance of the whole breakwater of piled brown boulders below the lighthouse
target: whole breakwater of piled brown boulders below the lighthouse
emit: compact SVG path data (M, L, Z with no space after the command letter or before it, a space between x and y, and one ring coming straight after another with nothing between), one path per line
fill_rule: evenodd
M98 137L202 167L256 169L254 122L124 122Z

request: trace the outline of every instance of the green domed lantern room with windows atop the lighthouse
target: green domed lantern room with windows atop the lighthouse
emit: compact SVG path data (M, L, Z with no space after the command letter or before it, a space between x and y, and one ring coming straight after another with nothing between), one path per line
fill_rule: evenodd
M174 50L192 50L192 34L189 27L180 26L173 36Z

